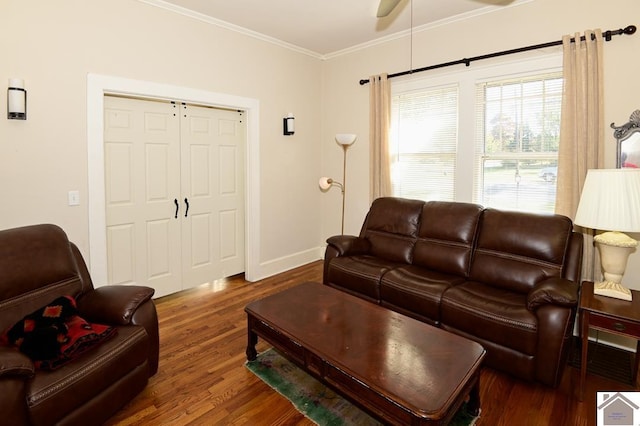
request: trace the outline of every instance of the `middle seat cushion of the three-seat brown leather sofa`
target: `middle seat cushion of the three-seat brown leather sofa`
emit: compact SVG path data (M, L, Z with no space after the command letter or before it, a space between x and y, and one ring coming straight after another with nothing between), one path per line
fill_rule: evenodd
M464 278L460 276L412 265L402 266L382 277L380 300L383 306L437 325L442 294L462 282Z

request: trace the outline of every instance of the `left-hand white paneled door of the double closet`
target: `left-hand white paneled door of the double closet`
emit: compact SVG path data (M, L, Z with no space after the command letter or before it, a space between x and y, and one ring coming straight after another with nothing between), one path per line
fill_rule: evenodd
M105 96L109 284L181 289L178 106Z

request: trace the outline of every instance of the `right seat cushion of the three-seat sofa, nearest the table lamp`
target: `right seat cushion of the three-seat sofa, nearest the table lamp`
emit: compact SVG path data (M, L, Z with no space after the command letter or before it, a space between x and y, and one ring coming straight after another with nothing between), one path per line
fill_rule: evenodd
M444 293L442 323L480 339L535 355L537 319L527 310L526 297L526 294L468 281Z

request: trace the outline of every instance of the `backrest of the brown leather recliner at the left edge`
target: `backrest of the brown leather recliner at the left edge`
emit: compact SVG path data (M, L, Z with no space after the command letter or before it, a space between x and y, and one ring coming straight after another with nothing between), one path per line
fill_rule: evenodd
M0 333L83 281L67 235L55 225L0 231Z

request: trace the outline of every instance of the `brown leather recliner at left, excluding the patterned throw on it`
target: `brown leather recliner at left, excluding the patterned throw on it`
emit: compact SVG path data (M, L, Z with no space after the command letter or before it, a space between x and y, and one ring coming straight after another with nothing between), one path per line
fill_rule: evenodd
M78 315L116 334L55 370L0 345L0 423L97 425L129 402L158 370L153 289L97 289L78 248L62 229L34 225L0 231L0 333L59 296L77 300Z

